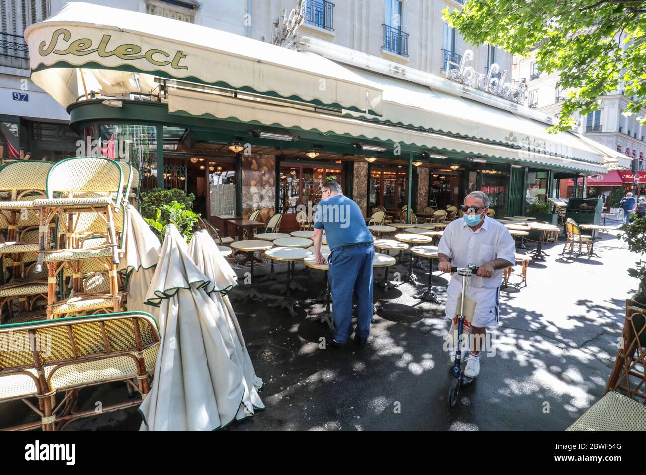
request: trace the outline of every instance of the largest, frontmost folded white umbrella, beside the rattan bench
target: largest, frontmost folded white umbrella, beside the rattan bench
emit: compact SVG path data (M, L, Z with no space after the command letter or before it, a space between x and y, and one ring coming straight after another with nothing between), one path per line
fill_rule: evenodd
M161 342L142 430L213 430L245 411L243 370L229 357L209 285L171 224L145 299L158 306Z

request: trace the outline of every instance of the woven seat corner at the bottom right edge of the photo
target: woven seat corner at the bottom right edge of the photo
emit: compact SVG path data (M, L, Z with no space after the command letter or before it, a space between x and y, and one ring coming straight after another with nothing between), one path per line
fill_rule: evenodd
M646 430L646 407L610 391L566 430Z

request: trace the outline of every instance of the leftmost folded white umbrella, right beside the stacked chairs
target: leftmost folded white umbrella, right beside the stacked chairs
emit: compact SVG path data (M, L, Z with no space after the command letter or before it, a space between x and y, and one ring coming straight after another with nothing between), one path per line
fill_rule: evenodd
M144 306L143 301L160 258L160 240L130 204L125 207L125 219L125 255L119 262L119 272L127 282L126 308L150 312L151 307ZM156 317L154 310L151 313Z

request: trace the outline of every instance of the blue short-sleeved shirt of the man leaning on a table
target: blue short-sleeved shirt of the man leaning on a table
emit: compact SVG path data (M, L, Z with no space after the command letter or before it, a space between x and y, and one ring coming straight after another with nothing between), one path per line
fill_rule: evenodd
M344 195L321 200L314 214L314 227L325 229L331 251L351 244L373 242L359 205Z

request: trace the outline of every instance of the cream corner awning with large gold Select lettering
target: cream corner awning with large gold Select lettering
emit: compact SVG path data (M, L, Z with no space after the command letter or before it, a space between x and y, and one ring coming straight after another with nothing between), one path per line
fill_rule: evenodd
M334 61L169 18L68 3L25 39L34 83L63 107L86 90L149 93L157 76L381 112L381 90Z

